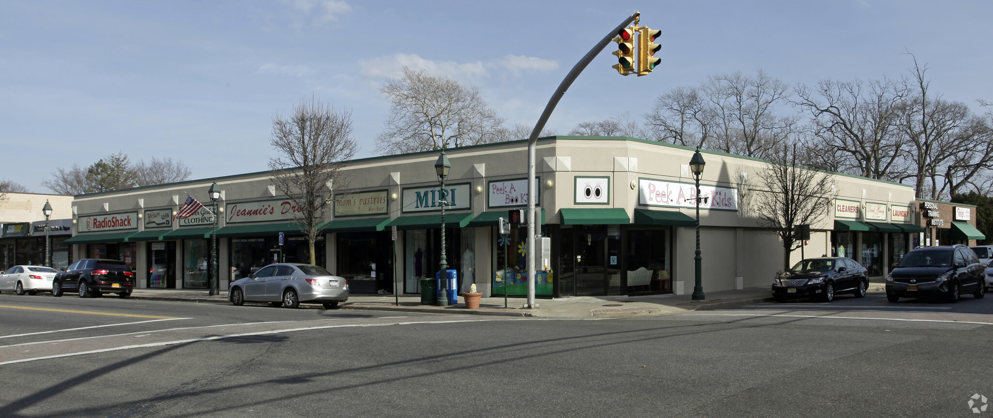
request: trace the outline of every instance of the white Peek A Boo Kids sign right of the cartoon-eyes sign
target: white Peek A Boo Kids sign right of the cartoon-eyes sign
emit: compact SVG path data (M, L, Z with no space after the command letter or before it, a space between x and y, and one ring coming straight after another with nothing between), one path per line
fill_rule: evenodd
M700 209L738 210L738 189L700 185ZM696 208L696 185L638 179L638 205Z

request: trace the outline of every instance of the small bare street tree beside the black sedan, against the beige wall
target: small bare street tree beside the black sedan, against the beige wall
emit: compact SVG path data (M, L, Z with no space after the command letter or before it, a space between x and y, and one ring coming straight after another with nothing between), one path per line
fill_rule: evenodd
M793 226L819 222L830 212L835 197L833 177L800 166L799 150L796 144L782 145L771 153L770 163L758 176L760 187L751 198L759 225L782 241L783 271L789 268L789 253L800 245Z

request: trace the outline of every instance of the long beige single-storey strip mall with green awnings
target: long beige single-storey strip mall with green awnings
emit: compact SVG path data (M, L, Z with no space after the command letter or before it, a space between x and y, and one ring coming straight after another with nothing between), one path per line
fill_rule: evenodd
M461 290L526 292L524 231L499 234L507 209L526 207L526 141L447 150L447 260ZM749 215L763 161L701 151L703 288L720 291L771 283L782 266L779 238ZM618 137L544 138L537 146L540 232L551 238L549 268L536 274L539 296L688 293L694 280L695 202L692 149ZM318 264L349 280L353 293L420 292L434 277L441 242L441 206L434 163L438 152L349 162L352 193L334 203L317 243ZM916 245L975 243L975 208L938 205L925 212L908 186L833 175L834 209L812 225L806 256L846 255L883 276ZM212 274L213 215L173 220L189 193L217 219L220 288L273 260L307 262L308 245L290 219L268 173L75 196L73 259L125 260L139 288L204 289ZM928 201L929 202L929 201ZM940 209L940 206L949 206ZM961 208L961 209L959 209ZM927 209L930 210L930 209ZM949 218L945 235L929 219ZM970 214L964 214L969 212ZM964 219L964 220L963 220ZM951 231L971 225L964 235ZM393 227L396 234L392 233ZM959 225L961 226L961 225ZM962 226L964 227L964 226ZM296 231L296 232L295 232ZM285 240L279 244L279 232ZM980 238L981 239L981 238ZM798 260L794 251L791 261ZM542 263L536 263L541 269Z

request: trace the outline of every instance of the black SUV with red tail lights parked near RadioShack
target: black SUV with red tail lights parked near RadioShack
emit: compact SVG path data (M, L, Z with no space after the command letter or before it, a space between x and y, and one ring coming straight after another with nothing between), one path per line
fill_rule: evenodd
M116 293L121 299L131 296L134 273L123 261L83 258L56 274L52 296L74 291L80 298L96 298L103 293Z

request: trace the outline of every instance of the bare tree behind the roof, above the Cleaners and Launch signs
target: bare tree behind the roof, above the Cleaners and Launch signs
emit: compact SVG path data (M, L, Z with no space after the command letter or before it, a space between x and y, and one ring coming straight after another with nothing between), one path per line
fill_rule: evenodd
M794 104L809 111L811 147L850 158L834 171L880 180L898 180L901 115L907 89L889 78L864 82L824 79L814 88L799 85Z

